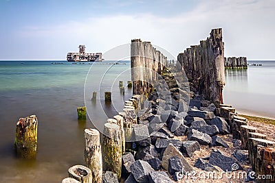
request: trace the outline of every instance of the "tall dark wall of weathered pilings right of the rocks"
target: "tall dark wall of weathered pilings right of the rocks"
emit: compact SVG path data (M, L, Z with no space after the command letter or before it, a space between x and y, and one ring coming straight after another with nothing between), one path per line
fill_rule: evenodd
M224 44L222 29L212 29L210 37L201 40L177 56L178 62L194 87L206 99L223 103Z

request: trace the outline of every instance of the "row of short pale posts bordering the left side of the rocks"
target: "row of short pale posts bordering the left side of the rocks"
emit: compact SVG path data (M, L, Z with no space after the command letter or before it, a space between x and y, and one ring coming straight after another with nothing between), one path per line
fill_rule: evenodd
M125 101L123 112L104 124L102 147L100 132L85 129L84 166L75 165L68 169L69 178L62 183L83 182L101 183L102 173L112 171L121 179L122 154L132 149L133 124L137 123L137 110L142 108L142 95L133 95Z

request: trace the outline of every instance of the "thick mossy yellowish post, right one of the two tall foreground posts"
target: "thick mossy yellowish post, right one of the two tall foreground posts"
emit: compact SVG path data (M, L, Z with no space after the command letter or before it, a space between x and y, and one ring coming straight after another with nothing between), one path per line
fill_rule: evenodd
M105 171L113 171L121 178L122 141L121 130L115 123L105 123L103 132L103 162Z

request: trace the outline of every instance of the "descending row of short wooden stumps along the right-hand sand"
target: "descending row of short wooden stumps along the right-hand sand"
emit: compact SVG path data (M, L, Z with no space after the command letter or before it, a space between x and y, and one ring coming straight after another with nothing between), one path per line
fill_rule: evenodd
M228 121L233 139L241 140L241 148L248 150L252 171L266 178L269 176L259 182L275 182L275 142L249 125L248 119L238 116L232 106L221 104L220 107L220 116Z

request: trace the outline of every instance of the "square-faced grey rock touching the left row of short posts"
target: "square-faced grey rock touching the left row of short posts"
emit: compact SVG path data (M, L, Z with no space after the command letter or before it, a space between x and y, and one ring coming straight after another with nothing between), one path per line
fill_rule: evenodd
M137 145L148 146L151 145L151 138L146 125L137 125L133 127L134 139Z

